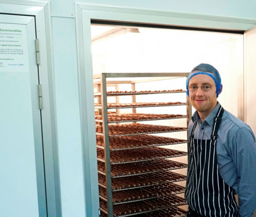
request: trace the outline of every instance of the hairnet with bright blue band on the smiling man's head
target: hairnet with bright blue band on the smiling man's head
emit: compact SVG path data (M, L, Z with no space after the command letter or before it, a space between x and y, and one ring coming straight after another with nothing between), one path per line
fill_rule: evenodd
M218 95L222 92L221 76L218 73L216 68L214 68L210 64L206 64L206 63L201 63L198 66L194 67L192 69L192 71L190 72L190 74L188 74L187 80L186 80L186 88L187 88L188 97L190 96L190 93L188 91L188 85L189 85L190 79L197 74L208 75L214 80L215 85L216 85L216 94L218 97Z

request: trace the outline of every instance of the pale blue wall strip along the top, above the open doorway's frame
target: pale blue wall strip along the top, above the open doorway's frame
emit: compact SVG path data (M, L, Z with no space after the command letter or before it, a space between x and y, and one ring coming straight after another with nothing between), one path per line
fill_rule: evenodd
M51 0L52 16L74 17L74 0ZM150 10L166 10L215 16L256 18L256 2L251 0L81 0L77 2Z

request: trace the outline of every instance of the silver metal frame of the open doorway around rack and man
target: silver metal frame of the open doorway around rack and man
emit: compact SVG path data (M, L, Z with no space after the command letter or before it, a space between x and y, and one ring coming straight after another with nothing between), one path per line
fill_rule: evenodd
M93 66L90 24L93 21L113 23L140 23L150 25L169 25L173 27L189 27L196 29L216 29L223 31L245 31L256 24L256 20L221 17L182 12L135 9L126 7L110 7L107 5L87 4L75 2L76 35L78 55L78 79L80 93L81 112L81 138L83 146L84 167L84 196L86 213L88 216L96 216L99 209L97 190L97 157L95 144L95 120L94 120L94 93L93 93ZM243 91L243 78L241 79L241 91ZM245 101L243 93L240 93L239 114L244 118Z

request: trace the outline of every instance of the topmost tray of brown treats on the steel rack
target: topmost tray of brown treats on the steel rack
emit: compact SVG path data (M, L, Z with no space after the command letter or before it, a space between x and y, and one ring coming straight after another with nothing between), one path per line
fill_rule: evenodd
M156 93L185 93L185 90L155 90L155 91L107 91L107 95L139 95L139 94L156 94ZM101 95L100 92L95 92L94 95Z

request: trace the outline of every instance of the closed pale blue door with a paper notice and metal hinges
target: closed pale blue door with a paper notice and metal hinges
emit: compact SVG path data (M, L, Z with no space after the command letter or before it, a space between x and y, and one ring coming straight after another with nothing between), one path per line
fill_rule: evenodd
M0 14L0 212L47 216L34 16Z

